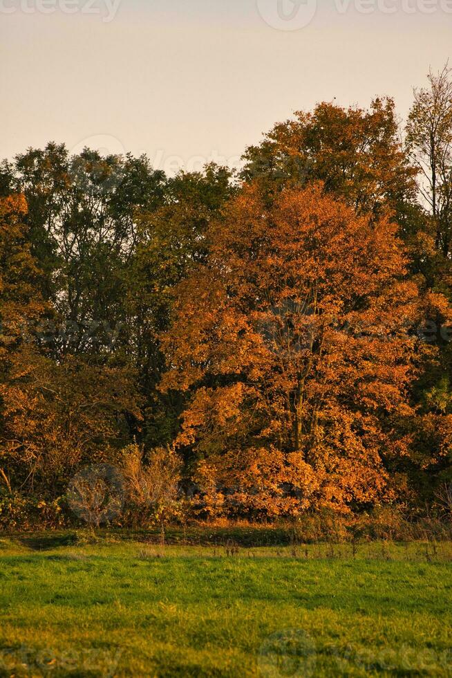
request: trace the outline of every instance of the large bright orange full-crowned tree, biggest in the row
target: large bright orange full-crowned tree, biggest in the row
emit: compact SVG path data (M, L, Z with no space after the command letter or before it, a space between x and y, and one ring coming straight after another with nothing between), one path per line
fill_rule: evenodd
M387 218L248 185L179 290L163 387L189 395L179 446L197 477L267 513L372 504L409 455L417 287ZM230 497L229 497L230 499Z

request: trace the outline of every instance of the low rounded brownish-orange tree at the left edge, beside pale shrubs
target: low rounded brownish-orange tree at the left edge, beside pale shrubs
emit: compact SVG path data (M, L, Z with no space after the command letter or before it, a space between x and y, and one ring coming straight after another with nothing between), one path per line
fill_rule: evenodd
M133 376L66 356L58 364L32 347L10 361L1 448L15 489L64 494L79 466L115 463L129 442L127 416L140 419Z

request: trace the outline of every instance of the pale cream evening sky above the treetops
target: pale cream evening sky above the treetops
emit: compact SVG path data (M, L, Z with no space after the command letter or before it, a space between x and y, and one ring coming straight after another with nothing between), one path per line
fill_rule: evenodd
M390 95L405 118L449 57L452 0L0 0L0 157L53 140L237 165L322 100Z

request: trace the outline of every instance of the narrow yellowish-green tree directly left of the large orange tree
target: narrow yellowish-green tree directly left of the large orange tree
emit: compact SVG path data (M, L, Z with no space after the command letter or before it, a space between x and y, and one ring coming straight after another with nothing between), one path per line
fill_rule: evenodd
M140 439L154 448L175 435L182 400L157 386L165 369L160 334L169 327L178 284L205 262L207 229L234 187L225 167L211 163L203 172L180 172L168 181L165 204L142 210L128 275L124 308L124 350L137 369L145 420Z

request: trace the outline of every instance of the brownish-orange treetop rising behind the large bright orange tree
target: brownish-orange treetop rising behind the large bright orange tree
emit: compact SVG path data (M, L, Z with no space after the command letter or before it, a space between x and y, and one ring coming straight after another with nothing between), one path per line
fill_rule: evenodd
M415 170L399 140L392 99L375 99L369 110L323 102L314 111L296 111L244 155L243 178L266 190L322 181L324 190L357 213L392 210L409 220L415 198Z

